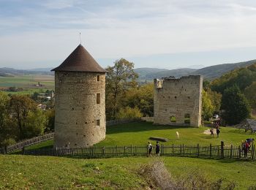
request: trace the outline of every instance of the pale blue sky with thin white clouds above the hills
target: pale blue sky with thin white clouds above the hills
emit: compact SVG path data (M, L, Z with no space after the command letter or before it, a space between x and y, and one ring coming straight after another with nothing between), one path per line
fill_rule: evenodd
M0 67L54 67L80 43L102 66L256 59L256 1L0 0Z

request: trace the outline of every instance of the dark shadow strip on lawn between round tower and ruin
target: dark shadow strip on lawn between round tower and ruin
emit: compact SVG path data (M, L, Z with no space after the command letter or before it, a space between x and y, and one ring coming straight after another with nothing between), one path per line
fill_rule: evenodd
M191 129L192 126L164 126L164 125L153 125L149 122L135 122L135 123L121 123L114 126L107 126L106 134L116 134L123 132L146 132L152 130L162 129Z

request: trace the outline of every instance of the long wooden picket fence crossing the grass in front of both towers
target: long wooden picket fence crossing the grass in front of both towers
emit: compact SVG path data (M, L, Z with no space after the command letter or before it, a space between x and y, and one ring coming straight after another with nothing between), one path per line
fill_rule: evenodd
M89 148L59 148L59 149L39 149L25 150L23 154L37 156L67 156L76 158L103 158L103 157L122 157L122 156L147 156L148 148L146 146L115 146L115 147L97 147ZM154 155L154 150L153 154ZM241 146L187 146L187 145L161 145L161 156L184 156L212 159L244 159L244 151ZM247 154L247 159L255 159L255 145Z

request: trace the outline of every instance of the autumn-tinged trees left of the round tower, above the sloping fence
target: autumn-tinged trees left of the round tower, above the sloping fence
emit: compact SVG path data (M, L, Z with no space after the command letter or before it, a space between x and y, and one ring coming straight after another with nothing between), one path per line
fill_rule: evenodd
M38 136L54 128L54 110L41 110L26 95L0 91L0 147Z

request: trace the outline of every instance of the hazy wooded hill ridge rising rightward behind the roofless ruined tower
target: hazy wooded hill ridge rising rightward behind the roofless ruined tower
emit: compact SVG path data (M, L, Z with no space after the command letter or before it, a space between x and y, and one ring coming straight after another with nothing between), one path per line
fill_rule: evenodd
M203 77L208 80L214 80L217 77L221 77L225 73L232 71L233 69L242 68L255 63L256 59L239 62L236 64L218 64L214 66L206 66L203 69L197 69L195 72L191 72L189 75L203 75Z

